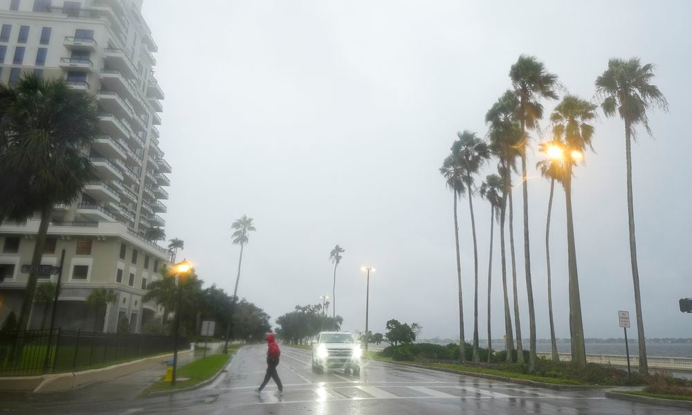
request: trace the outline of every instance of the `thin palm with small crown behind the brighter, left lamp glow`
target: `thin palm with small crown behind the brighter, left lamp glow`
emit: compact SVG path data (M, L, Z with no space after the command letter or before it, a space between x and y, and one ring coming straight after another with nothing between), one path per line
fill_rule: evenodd
M563 183L564 168L561 160L556 160L555 156L562 152L563 142L561 140L552 140L543 142L540 145L540 151L548 155L548 158L536 163L536 168L540 169L541 176L550 180L550 196L548 198L548 214L545 222L545 262L547 265L548 279L548 319L550 322L550 347L552 351L552 360L558 362L558 345L555 339L555 324L553 321L553 294L552 294L552 279L550 277L550 214L553 208L553 194L555 190L555 182Z

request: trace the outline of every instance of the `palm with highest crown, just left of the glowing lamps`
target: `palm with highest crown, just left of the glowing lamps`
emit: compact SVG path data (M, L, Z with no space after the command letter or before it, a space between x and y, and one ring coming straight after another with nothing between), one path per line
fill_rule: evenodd
M526 150L529 136L527 129L537 129L538 120L543 118L541 99L556 100L558 77L545 70L545 65L534 56L521 55L513 64L509 77L519 97L519 124L521 141L522 195L524 201L524 267L526 291L529 298L529 371L536 368L536 311L534 311L534 288L531 284L531 252L529 250L529 185L527 183Z

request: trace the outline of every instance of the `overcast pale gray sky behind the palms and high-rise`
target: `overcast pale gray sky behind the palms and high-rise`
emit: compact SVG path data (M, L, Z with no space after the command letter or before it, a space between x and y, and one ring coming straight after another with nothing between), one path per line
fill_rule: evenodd
M166 93L161 147L173 166L167 236L208 284L233 292L239 248L230 224L255 219L239 295L272 322L296 304L331 297L338 269L345 329L397 318L423 336L458 335L452 195L438 168L457 131L486 133L484 114L509 87L509 68L536 55L570 91L594 98L609 57L657 64L670 111L651 114L655 138L633 148L635 215L647 337L692 337L692 167L687 1L228 1L145 0ZM554 102L545 102L546 113ZM542 127L547 127L543 121ZM574 181L585 335L618 337L617 311L634 317L626 219L623 123L596 124ZM545 214L549 183L529 170L531 264L538 337L548 338ZM495 169L487 166L482 177ZM481 179L479 179L480 182ZM520 206L520 190L515 192ZM480 313L485 326L489 205L475 199ZM569 335L564 193L552 222L556 334ZM473 333L473 246L459 203L464 312ZM497 228L496 228L497 229ZM528 335L522 223L515 215L520 308ZM493 337L504 331L499 238L493 264ZM509 255L509 252L508 252ZM508 270L509 271L509 270ZM481 337L484 336L484 329Z

